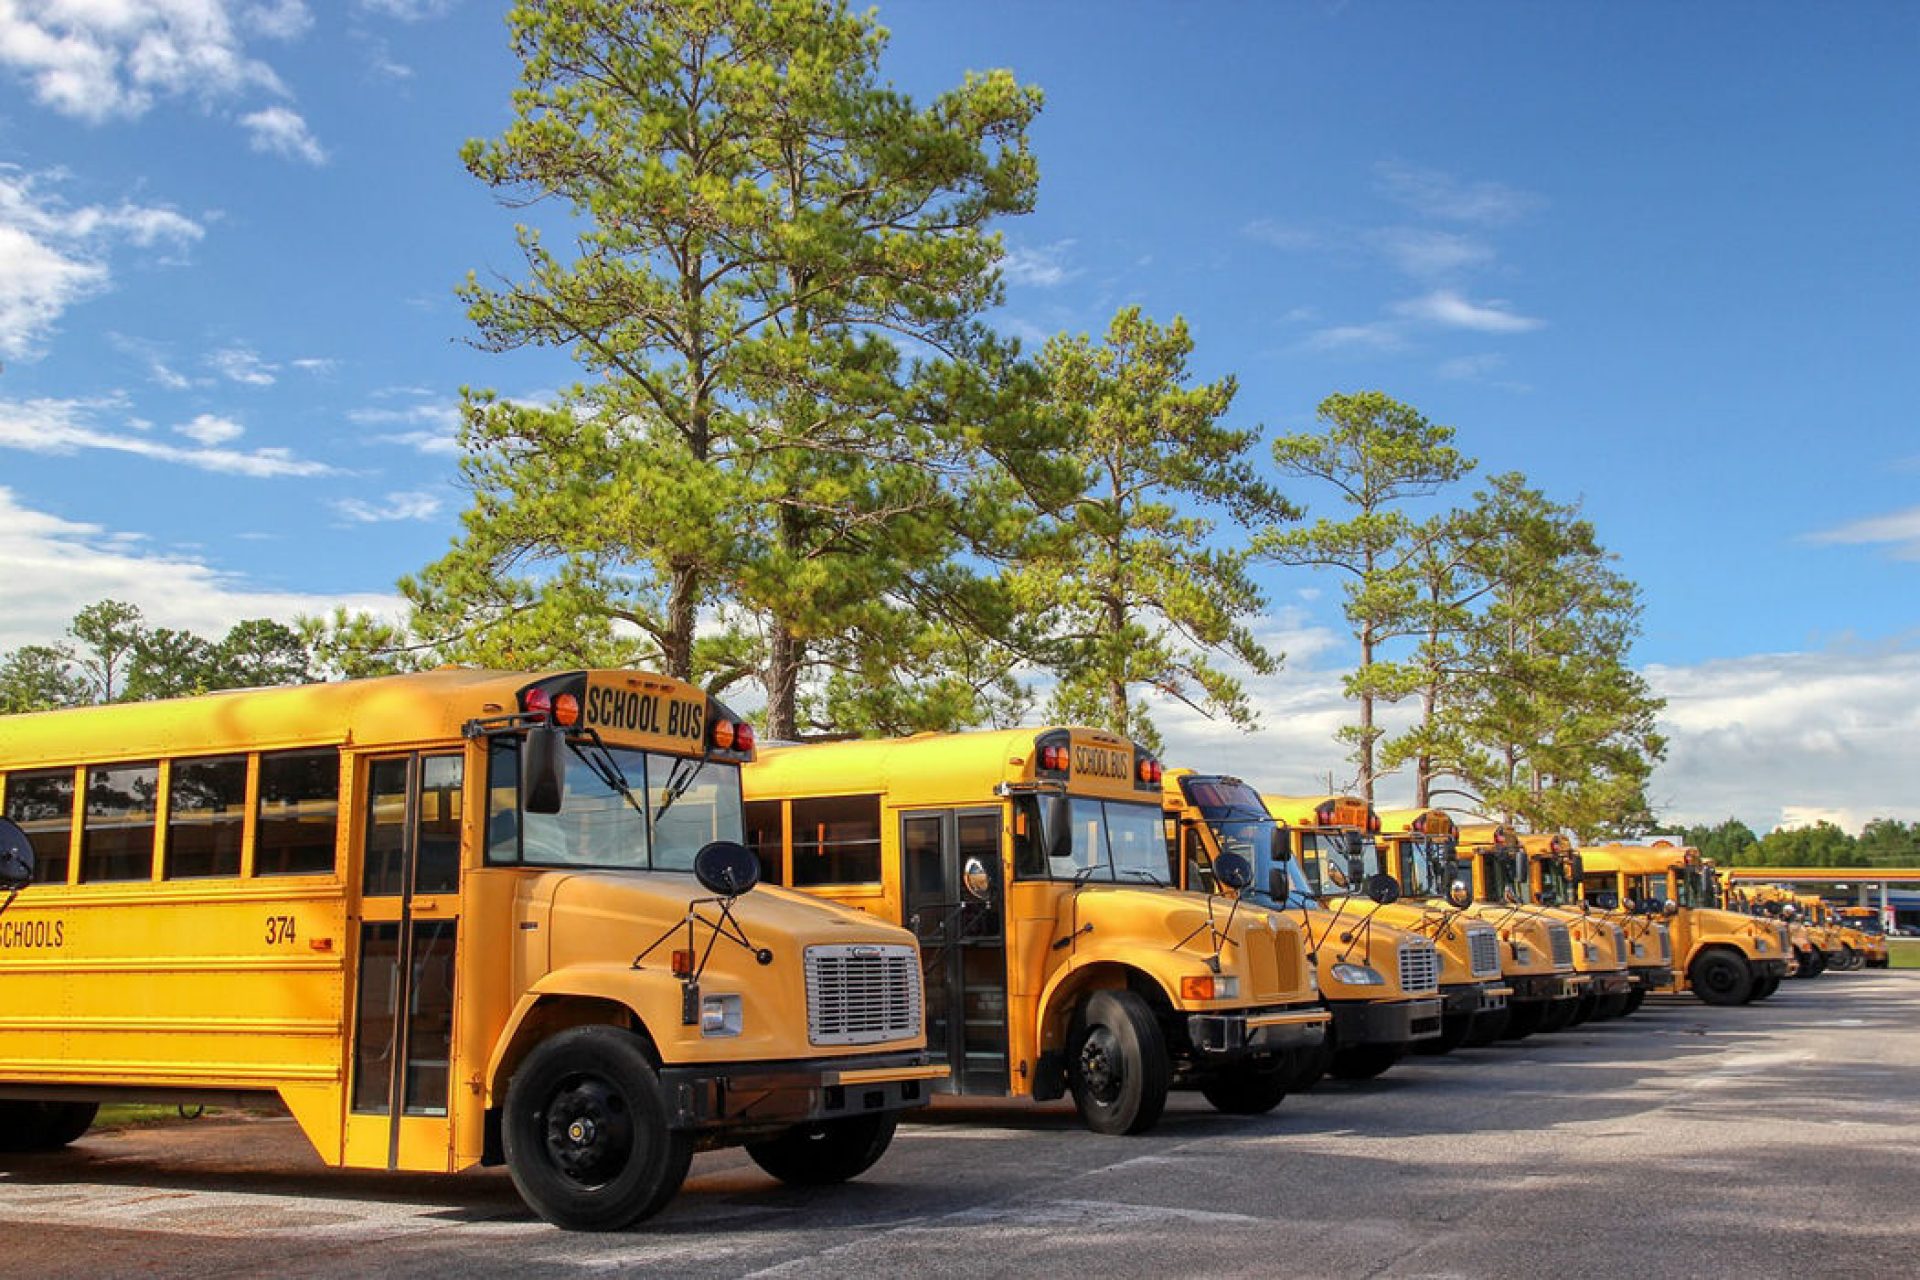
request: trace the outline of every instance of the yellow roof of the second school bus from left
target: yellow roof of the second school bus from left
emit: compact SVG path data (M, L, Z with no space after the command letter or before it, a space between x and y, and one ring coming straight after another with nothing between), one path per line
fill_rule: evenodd
M1037 739L1069 735L1075 756L1081 747L1125 754L1121 779L1100 779L1102 791L1140 791L1142 800L1160 804L1160 783L1140 789L1133 781L1137 747L1133 741L1083 725L1033 725L1025 729L979 729L968 733L916 733L914 737L770 747L747 770L747 798L829 796L851 793L910 793L916 802L985 800L1006 781L1031 779ZM1069 789L1077 791L1083 771L1075 758Z

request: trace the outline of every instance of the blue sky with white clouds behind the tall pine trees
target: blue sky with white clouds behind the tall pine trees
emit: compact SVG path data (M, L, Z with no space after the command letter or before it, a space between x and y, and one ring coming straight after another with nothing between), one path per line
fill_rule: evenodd
M516 265L457 159L507 119L501 15L0 4L0 649L104 595L205 631L378 606L445 547L457 388L570 378L465 345L453 297ZM916 96L1046 92L1002 328L1185 315L1269 434L1336 390L1417 405L1582 497L1644 585L1668 814L1920 816L1920 10L879 15ZM1263 585L1258 750L1169 708L1169 758L1340 781L1338 583Z

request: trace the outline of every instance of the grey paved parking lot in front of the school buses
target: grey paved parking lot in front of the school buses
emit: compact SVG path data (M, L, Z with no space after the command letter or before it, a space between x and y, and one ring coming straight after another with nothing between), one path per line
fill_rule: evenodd
M1655 1000L1144 1138L939 1109L866 1178L701 1155L643 1230L532 1219L499 1173L319 1169L288 1121L0 1157L0 1274L1866 1276L1920 1270L1920 973Z

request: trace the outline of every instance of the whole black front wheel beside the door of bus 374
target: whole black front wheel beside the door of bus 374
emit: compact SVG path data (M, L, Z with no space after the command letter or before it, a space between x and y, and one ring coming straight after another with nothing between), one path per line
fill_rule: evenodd
M507 1086L501 1140L520 1196L568 1230L659 1213L693 1159L691 1134L666 1128L645 1044L620 1027L574 1027L528 1054Z

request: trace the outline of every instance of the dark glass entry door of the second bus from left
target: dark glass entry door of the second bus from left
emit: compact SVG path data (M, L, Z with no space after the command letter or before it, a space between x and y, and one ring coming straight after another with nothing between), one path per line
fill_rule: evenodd
M906 927L920 940L927 1050L960 1094L1006 1094L1000 808L900 816Z

